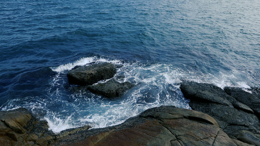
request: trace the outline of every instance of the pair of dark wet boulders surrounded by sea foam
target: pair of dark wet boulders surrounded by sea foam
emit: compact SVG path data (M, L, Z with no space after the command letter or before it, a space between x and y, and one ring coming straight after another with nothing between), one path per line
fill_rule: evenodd
M73 86L70 91L81 93L91 91L107 98L120 97L125 93L125 91L133 87L130 82L120 83L114 79L110 79L104 83L94 84L100 80L112 78L115 73L116 67L111 63L76 67L75 69L69 71L67 77L70 83L81 86Z

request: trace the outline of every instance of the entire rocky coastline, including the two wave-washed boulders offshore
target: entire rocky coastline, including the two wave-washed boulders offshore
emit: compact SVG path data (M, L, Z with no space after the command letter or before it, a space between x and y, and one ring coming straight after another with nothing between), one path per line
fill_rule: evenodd
M97 83L113 77L116 68L109 63L92 67L95 69L77 67L68 73L68 78L73 76L77 80L69 79L76 84L72 91L90 90L116 98L133 86L113 79ZM78 73L81 78L75 76L75 71L81 72ZM93 76L98 79L93 80ZM192 110L161 106L117 126L92 129L84 126L58 134L48 130L46 121L24 108L0 111L0 146L260 146L259 88L221 89L182 80L180 90L190 100Z

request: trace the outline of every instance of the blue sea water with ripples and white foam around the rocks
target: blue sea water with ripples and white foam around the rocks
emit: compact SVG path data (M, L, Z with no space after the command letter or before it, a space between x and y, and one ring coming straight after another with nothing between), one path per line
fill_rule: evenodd
M149 108L189 109L181 79L260 87L259 0L1 0L0 110L50 129L117 125ZM122 65L120 99L72 93L76 65ZM120 76L124 76L123 79Z

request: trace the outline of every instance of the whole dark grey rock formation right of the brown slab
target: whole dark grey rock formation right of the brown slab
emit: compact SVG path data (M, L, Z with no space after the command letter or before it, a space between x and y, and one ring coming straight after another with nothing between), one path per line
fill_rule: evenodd
M190 99L192 110L206 113L216 119L220 128L229 137L249 143L241 137L241 131L260 134L259 98L240 88L226 87L225 90L207 83L182 81L180 90L185 98ZM257 106L258 105L258 106ZM245 134L244 134L245 135ZM248 135L248 134L247 134ZM253 139L260 141L257 136ZM255 146L260 146L254 143Z

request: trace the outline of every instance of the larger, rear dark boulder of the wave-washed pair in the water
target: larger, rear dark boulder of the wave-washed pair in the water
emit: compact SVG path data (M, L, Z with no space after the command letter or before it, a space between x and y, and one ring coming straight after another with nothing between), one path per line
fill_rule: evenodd
M72 69L67 74L67 77L72 84L92 85L100 80L112 78L116 72L117 70L114 64L101 63Z

